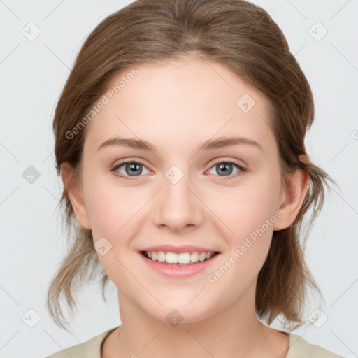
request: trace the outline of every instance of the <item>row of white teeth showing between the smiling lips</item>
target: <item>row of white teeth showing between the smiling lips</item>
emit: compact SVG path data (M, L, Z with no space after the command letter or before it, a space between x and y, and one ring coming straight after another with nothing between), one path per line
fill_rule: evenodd
M164 251L140 251L146 259L152 262L160 262L161 264L173 266L190 266L200 262L210 261L220 252L164 252Z

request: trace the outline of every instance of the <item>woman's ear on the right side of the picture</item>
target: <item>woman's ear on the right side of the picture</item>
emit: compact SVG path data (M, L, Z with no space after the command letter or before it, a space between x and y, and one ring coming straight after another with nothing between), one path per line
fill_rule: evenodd
M308 163L308 155L300 155L299 160ZM282 201L278 208L282 216L273 224L273 231L286 229L294 222L306 196L309 179L308 173L301 168L292 174L282 192Z

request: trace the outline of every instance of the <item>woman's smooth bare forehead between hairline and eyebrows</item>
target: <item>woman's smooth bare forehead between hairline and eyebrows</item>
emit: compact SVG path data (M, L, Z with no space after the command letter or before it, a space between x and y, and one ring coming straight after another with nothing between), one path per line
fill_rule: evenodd
M134 66L113 78L103 99L87 124L91 147L114 136L157 147L234 135L275 145L266 97L217 62L184 58Z

